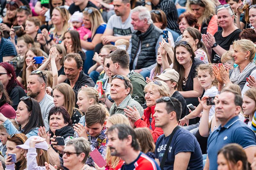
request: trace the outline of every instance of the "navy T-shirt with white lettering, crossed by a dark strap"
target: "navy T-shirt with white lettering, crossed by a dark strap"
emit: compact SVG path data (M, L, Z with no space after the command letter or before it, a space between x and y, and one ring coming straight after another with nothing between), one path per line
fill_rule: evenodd
M170 135L165 137L164 134L159 136L156 141L155 157L161 163L164 156L166 145L169 141ZM188 130L179 128L173 135L169 152L164 164L164 170L173 169L175 155L180 152L191 152L188 169L200 170L203 169L203 157L200 145L196 137Z

